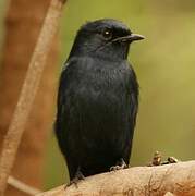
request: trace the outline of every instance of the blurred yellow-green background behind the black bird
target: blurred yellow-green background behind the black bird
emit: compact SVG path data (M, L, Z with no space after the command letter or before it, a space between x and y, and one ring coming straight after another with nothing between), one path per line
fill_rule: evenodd
M2 8L1 0L0 19ZM61 20L59 68L77 28L101 17L121 20L146 37L133 44L130 52L141 86L131 164L148 163L156 150L164 157L195 159L195 1L68 0ZM46 188L66 182L65 172L52 134L46 156Z

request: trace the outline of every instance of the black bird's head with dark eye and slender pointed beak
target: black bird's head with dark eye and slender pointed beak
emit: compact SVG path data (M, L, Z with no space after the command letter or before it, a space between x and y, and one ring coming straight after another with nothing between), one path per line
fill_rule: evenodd
M70 57L93 56L106 59L126 59L130 44L144 39L123 23L102 19L88 22L77 32Z

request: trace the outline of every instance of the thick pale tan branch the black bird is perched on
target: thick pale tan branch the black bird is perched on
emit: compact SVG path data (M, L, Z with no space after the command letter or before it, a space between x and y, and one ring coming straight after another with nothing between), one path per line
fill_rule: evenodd
M195 161L159 167L135 167L86 177L64 189L64 185L37 196L193 196L195 195Z

